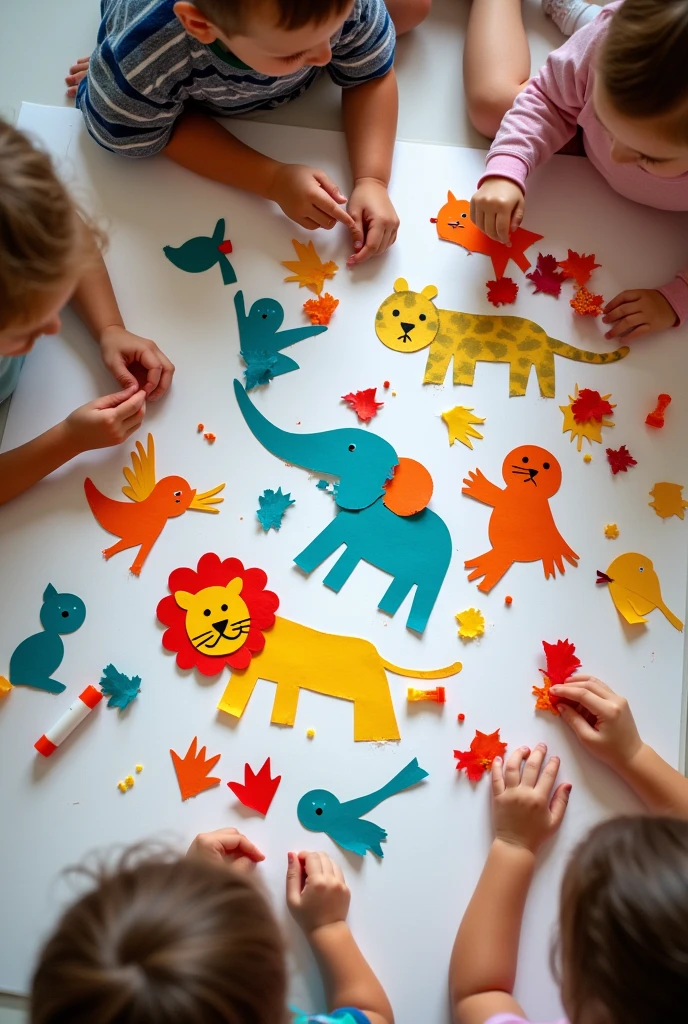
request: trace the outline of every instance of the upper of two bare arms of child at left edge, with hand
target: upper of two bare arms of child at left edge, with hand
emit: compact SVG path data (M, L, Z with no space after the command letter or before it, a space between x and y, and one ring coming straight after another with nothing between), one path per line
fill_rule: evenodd
M72 305L100 345L102 361L123 388L140 383L149 401L165 394L172 383L174 367L155 341L126 330L107 268L95 247L72 297ZM140 367L140 381L129 369L131 366Z

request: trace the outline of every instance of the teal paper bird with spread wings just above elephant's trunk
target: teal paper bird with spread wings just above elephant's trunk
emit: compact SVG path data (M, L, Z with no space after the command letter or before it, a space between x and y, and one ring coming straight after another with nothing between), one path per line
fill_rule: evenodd
M298 362L280 354L282 349L328 330L327 327L296 327L280 331L285 310L277 300L257 299L247 314L241 290L234 295L234 309L241 355L247 367L247 391L258 384L267 384L273 377L298 370Z

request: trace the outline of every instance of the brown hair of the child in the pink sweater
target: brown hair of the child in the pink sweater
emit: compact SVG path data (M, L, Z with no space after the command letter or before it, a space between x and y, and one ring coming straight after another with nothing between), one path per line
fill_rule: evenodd
M688 0L625 0L597 63L614 109L688 142Z

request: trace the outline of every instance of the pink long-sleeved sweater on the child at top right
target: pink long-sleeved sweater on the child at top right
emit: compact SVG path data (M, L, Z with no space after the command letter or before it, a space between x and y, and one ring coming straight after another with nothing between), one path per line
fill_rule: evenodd
M620 196L657 210L688 210L688 174L659 178L636 164L611 160L609 135L595 117L595 53L620 2L550 53L543 70L516 97L487 154L487 177L509 178L525 193L528 174L583 129L588 159ZM657 289L679 317L688 316L688 268Z

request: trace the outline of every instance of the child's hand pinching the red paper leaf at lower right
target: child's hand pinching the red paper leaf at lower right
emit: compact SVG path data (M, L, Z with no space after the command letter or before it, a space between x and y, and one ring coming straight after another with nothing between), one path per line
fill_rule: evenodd
M629 765L643 745L629 702L594 676L571 676L552 693L576 701L596 719L588 718L568 705L558 703L557 711L587 751L616 771Z

